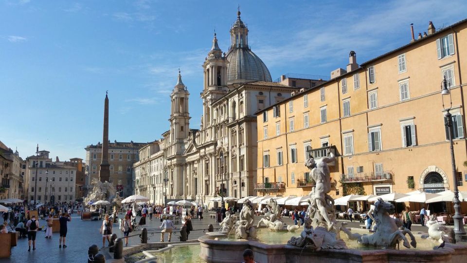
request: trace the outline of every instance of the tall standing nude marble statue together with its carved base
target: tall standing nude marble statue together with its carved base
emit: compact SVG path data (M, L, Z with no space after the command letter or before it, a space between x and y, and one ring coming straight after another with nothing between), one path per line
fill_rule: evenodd
M329 195L331 191L331 177L328 163L335 160L334 153L327 150L328 157L315 161L313 157L305 162L311 170L311 178L316 186L311 189L308 210L300 237L292 237L287 244L305 247L313 250L322 248L345 249L347 246L341 239L340 231L336 228L336 213L334 199Z

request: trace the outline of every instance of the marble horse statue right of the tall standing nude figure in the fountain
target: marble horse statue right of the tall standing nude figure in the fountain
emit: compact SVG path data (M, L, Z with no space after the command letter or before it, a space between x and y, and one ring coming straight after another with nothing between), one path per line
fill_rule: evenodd
M372 235L353 233L345 228L346 223L342 223L340 230L347 234L350 240L358 240L361 244L371 244L379 247L395 247L400 241L403 241L403 245L407 248L417 246L417 242L412 232L404 228L400 230L393 218L389 216L389 213L394 212L394 205L384 202L381 198L378 198L375 203L374 217L377 224L376 232ZM408 234L411 238L411 242L405 237Z

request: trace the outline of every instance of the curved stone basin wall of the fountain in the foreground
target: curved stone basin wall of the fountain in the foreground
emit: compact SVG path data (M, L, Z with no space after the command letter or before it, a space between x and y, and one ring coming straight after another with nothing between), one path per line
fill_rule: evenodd
M298 232L296 236L300 235ZM467 257L467 245L446 244L441 249L429 249L430 245L437 245L428 240L422 240L417 235L417 241L428 242L424 249L378 249L368 247L362 249L322 249L311 251L287 244L264 244L259 241L229 240L227 236L206 235L198 239L200 242L200 258L209 263L237 263L243 261L243 251L253 250L254 260L259 263L290 262L290 263L403 263L403 262L437 262L460 263ZM346 241L349 242L356 241Z

